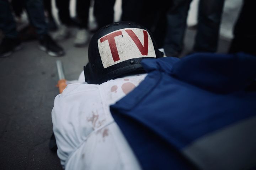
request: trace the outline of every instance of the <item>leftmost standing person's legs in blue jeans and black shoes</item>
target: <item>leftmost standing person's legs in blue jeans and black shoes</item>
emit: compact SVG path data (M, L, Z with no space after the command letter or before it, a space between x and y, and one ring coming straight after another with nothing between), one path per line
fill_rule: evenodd
M62 47L48 34L42 0L24 0L23 4L30 23L36 28L39 49L47 52L50 56L63 56ZM21 49L16 23L8 0L0 0L0 29L5 35L0 44L0 57L10 56L12 52Z

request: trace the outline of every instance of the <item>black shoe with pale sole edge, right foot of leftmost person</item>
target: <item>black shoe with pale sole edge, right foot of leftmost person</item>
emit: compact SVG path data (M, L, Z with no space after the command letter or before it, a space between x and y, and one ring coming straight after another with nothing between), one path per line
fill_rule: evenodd
M65 54L62 47L60 47L48 34L44 35L39 40L39 49L47 52L50 56L63 56Z

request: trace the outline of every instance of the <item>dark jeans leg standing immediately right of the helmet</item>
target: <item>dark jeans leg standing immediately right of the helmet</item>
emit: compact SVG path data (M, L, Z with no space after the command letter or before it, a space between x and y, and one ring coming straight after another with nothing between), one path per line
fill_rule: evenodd
M167 13L167 31L164 50L167 56L178 57L183 49L187 14L191 0L174 0Z

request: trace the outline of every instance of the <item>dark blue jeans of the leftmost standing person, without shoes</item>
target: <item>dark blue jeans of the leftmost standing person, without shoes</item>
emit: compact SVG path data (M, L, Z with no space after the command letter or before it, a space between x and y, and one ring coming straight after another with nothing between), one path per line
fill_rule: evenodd
M44 7L42 0L23 0L28 18L32 26L36 28L39 39L47 34L47 25L44 18ZM16 23L8 0L0 0L0 29L7 38L16 38Z

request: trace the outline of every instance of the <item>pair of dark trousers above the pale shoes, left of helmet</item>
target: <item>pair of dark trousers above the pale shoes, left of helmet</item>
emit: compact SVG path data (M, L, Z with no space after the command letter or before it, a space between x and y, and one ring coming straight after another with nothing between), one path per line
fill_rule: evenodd
M88 27L90 3L91 3L91 0L76 1L76 15L79 21L80 28ZM70 26L73 24L73 21L70 17L69 4L70 4L70 0L56 0L59 19L63 24L67 26Z

